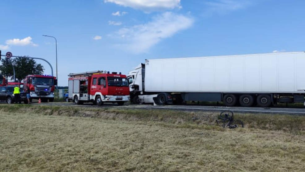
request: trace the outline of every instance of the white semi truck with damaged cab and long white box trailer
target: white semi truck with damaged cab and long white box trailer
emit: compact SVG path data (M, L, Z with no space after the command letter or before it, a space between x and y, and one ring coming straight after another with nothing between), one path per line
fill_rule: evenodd
M145 60L128 74L133 103L304 103L305 52Z

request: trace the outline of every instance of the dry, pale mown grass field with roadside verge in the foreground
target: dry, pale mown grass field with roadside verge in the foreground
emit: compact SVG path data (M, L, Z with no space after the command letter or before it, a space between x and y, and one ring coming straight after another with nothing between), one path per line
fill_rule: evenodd
M305 171L305 117L0 105L0 171Z

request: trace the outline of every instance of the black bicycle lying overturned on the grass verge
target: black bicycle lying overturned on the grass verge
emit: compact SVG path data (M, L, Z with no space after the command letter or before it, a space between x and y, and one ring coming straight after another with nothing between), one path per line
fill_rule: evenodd
M237 119L234 119L234 113L232 111L223 111L218 116L218 119L216 120L217 125L222 126L223 128L237 128L242 127L243 128L243 121Z

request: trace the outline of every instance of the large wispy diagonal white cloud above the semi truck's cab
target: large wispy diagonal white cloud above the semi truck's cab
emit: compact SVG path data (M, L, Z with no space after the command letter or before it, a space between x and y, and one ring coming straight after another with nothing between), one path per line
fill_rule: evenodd
M194 20L184 15L165 12L153 17L151 22L119 29L114 36L122 43L119 47L139 54L148 51L161 40L192 26Z

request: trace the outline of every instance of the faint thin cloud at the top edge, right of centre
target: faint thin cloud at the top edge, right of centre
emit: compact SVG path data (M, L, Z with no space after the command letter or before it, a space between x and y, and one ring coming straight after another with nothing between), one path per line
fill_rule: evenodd
M243 9L251 2L249 0L213 0L204 2L206 5L204 15L212 15L213 13L226 14L230 11Z

